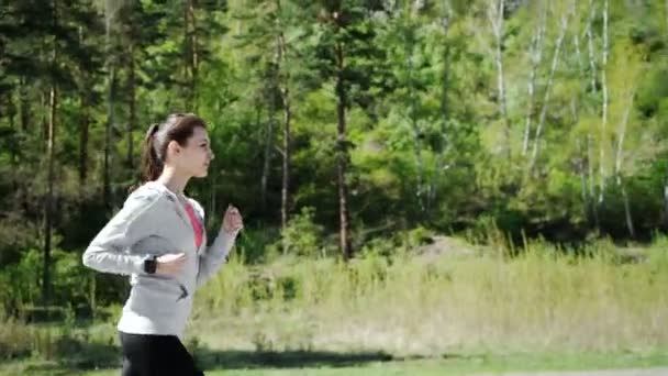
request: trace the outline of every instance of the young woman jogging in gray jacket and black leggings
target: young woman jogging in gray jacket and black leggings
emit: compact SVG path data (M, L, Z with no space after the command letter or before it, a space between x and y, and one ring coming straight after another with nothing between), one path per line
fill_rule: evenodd
M242 217L229 207L207 246L204 211L183 193L213 159L203 120L171 114L151 126L144 147L144 184L92 240L84 265L131 276L118 323L123 376L203 375L181 343L183 329L194 291L226 259Z

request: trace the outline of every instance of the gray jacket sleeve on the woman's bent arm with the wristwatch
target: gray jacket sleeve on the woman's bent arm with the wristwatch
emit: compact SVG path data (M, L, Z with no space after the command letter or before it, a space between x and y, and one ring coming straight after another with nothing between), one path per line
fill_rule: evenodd
M123 208L84 252L84 265L103 273L144 273L144 259L149 255L133 252L132 246L154 232L157 219L155 209L159 197L159 193L153 191L131 193Z

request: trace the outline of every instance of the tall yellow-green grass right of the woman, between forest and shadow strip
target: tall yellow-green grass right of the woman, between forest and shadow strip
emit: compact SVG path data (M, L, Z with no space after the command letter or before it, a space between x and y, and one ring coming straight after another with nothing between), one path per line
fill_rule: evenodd
M232 263L199 292L191 333L219 349L397 355L665 347L668 256L661 243L646 254Z

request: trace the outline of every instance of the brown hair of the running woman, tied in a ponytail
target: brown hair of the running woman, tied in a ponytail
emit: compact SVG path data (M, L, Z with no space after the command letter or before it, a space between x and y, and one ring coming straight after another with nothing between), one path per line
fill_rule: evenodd
M188 139L198 126L205 129L207 123L192 113L172 113L163 123L151 125L144 137L142 181L157 179L165 166L169 142L176 141L179 145L186 146Z

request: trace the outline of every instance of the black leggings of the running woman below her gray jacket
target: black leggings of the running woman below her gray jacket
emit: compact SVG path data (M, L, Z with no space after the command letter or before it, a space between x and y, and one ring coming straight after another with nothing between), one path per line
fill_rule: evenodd
M122 376L203 376L176 335L119 332L123 349Z

